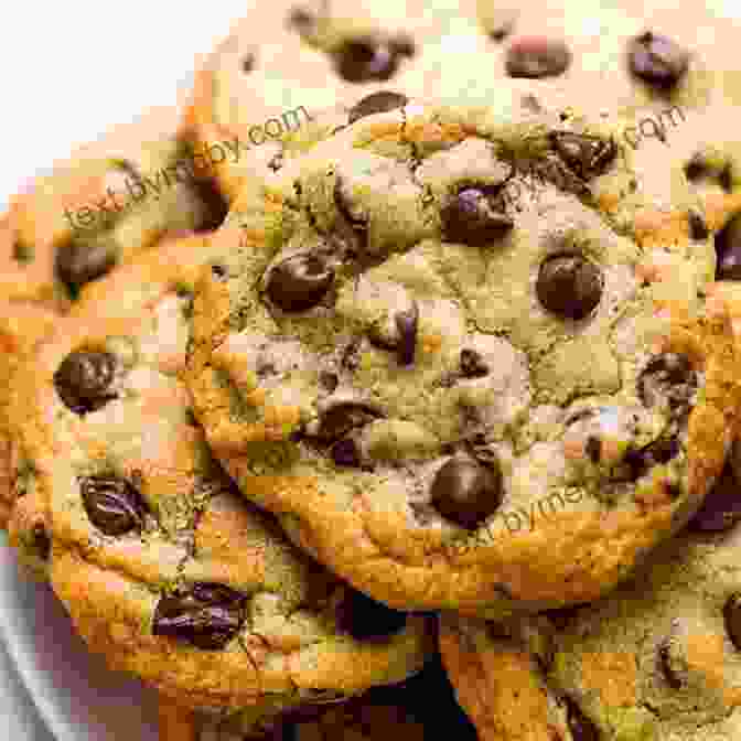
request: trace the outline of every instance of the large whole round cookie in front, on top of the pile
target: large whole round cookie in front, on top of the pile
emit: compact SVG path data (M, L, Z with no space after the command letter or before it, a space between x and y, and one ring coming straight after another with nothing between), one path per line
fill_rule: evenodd
M503 85L357 120L246 185L198 283L215 454L399 609L599 597L697 509L738 428L683 171L644 178L619 120L530 104Z

